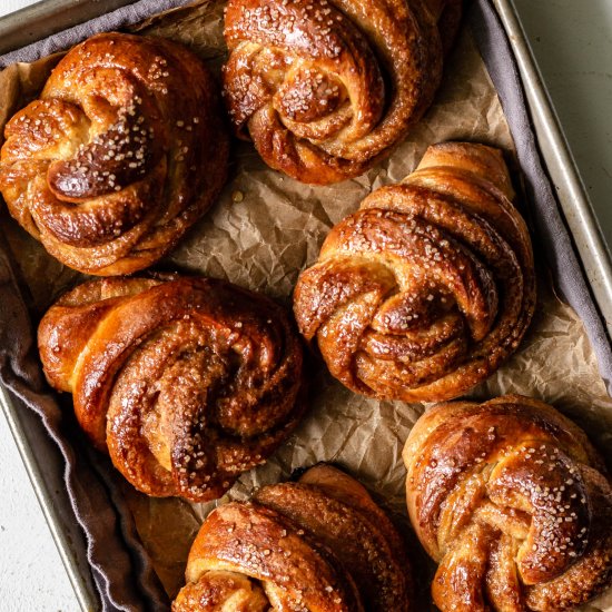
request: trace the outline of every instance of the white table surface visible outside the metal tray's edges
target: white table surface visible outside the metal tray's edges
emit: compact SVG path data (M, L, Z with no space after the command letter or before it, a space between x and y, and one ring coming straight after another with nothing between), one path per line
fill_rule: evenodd
M0 0L0 16L32 3ZM515 0L544 81L612 245L612 1ZM0 416L0 610L79 610Z

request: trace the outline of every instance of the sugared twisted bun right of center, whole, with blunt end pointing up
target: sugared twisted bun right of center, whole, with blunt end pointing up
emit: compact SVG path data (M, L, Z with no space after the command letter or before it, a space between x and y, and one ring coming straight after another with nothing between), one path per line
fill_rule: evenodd
M451 399L516 349L535 277L512 197L499 150L446 142L332 229L294 310L336 378L379 398Z

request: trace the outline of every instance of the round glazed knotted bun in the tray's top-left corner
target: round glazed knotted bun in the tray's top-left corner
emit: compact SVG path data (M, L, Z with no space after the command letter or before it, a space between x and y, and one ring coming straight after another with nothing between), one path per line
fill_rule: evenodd
M164 39L95 36L58 63L4 130L0 191L62 264L130 274L209 208L227 175L216 85Z

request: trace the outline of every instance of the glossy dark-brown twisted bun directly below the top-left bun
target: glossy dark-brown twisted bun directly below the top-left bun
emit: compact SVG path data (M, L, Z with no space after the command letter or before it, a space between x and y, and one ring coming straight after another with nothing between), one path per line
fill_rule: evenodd
M221 280L99 279L42 318L49 383L149 495L216 499L264 463L304 409L303 353L286 313Z

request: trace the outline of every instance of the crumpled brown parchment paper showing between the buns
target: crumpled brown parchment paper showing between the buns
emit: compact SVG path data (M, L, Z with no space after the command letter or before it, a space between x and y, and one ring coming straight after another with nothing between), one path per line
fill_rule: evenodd
M134 31L186 43L218 75L226 53L223 4L200 2L177 9L148 20ZM57 60L17 65L0 73L0 126L17 108L36 97ZM513 169L515 188L521 193L502 107L466 29L446 61L433 108L388 161L355 180L310 187L270 170L251 145L236 142L231 177L219 201L157 267L227 278L290 307L297 275L316 260L332 226L356 210L373 189L409 174L428 145L448 139L501 147ZM525 203L519 198L517 206L529 220ZM2 227L13 253L19 254L36 320L82 275L55 261L4 217ZM536 237L534 248L541 264ZM581 424L600 450L612 448L612 399L599 375L584 327L573 310L555 297L546 270L540 267L539 305L521 349L472 396L485 399L522 393L544 399ZM182 584L190 542L211 507L229 499L247 499L254 487L286 480L295 468L328 461L357 476L401 525L417 569L423 599L418 609L428 608L425 602L433 565L408 526L401 458L409 430L425 406L358 396L334 381L316 355L312 356L310 372L310 409L295 435L266 465L244 474L223 500L207 505L190 505L177 499L155 500L126 484L125 494L138 531L170 596ZM606 458L610 462L610 453ZM612 612L612 593L588 609Z

